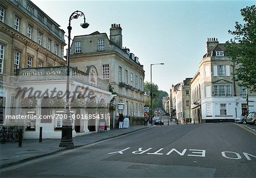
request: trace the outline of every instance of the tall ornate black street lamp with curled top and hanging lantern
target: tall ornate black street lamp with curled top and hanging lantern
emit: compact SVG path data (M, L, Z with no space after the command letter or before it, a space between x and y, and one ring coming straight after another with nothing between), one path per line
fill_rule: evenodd
M70 40L71 40L71 20L77 19L79 16L84 16L84 23L81 23L80 26L82 28L87 28L89 23L85 22L85 15L81 11L77 10L69 16L69 23L68 23L68 56L67 56L67 91L66 91L66 106L65 106L65 117L63 119L63 126L61 130L61 140L60 140L60 147L74 147L73 139L72 139L72 117L70 115L69 110L69 67L70 67Z

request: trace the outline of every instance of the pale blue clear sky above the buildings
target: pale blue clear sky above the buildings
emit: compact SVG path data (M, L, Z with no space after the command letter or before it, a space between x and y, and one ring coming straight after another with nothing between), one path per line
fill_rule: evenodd
M256 1L42 1L36 6L60 25L68 35L69 16L76 10L85 14L71 21L71 37L99 31L110 35L111 24L122 27L123 47L144 65L144 82L170 93L172 85L193 78L206 53L207 38L225 43L233 38L235 22L243 23L240 10ZM65 37L68 42L67 36ZM67 46L65 47L67 48ZM64 53L65 55L65 53ZM111 72L111 71L110 71Z

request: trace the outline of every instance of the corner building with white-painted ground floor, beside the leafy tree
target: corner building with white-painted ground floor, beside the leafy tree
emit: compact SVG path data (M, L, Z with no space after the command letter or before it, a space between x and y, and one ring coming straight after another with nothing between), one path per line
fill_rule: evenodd
M225 56L224 44L208 38L206 46L207 53L191 81L192 122L229 122L242 110L255 111L256 94L233 80L234 65Z

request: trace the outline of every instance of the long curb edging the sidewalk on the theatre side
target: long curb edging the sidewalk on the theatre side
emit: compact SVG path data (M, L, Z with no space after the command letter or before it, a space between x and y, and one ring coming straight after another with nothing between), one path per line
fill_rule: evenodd
M139 131L139 130L151 129L151 128L152 128L152 127L142 127L141 129L133 130L133 131L128 132L128 133L123 133L123 134L119 134L119 135L115 135L115 136L110 136L110 137L108 137L108 138L99 139L99 140L97 140L97 141L95 141L95 142L92 142L92 143L101 142L102 140L112 139L112 138L115 138L115 137L118 137L118 136L131 134L131 133L134 133L134 132ZM79 145L79 146L74 146L73 148L79 148L79 147L86 146L86 145L92 144L92 143L81 144L81 145ZM24 163L24 162L27 162L27 161L30 161L30 160L33 160L33 159L42 158L42 157L44 157L44 156L54 155L54 154L56 154L56 153L59 153L59 152L65 151L65 150L72 150L73 148L63 148L63 149L60 149L60 150L48 152L48 153L46 153L46 154L37 155L37 156L31 156L31 157L29 157L29 158L24 158L24 159L21 159L21 160L17 160L17 161L15 161L15 162L0 164L0 169L9 167L9 166L11 166L11 165ZM0 170L0 171L1 171L1 170Z

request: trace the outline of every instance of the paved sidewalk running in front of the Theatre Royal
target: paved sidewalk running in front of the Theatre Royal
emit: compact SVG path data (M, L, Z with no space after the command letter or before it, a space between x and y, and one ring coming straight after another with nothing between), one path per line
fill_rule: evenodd
M112 129L100 133L76 136L73 138L73 143L75 147L84 146L147 128L150 128L150 126L131 126L129 129ZM23 139L22 147L18 147L18 142L0 144L0 168L55 154L67 149L59 147L59 144L60 139L43 139L42 143L39 143L39 139Z

